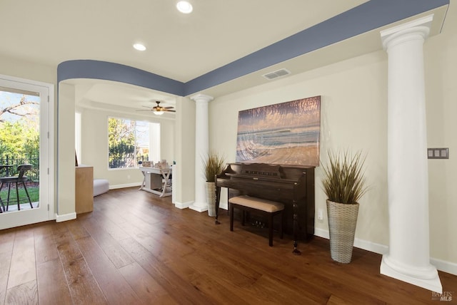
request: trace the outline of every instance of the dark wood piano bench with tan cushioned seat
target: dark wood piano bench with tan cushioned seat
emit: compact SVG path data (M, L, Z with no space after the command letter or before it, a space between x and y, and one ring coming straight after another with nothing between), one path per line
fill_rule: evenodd
M236 196L229 199L230 204L230 231L233 231L233 209L236 207L243 211L242 224L244 225L245 212L254 212L268 217L268 244L273 247L273 217L281 216L279 234L283 238L283 210L284 205L279 202L264 200L250 196Z

